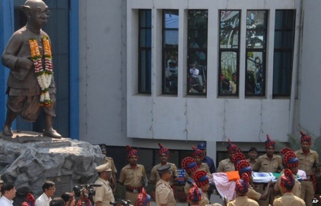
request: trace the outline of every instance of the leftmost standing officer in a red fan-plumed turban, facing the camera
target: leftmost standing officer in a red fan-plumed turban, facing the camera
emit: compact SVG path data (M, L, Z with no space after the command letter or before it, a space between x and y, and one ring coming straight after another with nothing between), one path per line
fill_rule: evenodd
M131 204L135 205L137 195L142 192L144 184L147 184L147 177L144 166L137 164L137 150L127 145L126 151L128 152L129 164L121 169L119 183L126 186L125 199L130 200Z

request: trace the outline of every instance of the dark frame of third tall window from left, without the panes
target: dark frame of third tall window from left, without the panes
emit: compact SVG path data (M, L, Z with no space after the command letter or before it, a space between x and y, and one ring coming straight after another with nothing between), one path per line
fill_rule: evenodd
M207 11L207 26L206 28L188 28L188 25L189 25L189 20L188 20L188 15L189 15L189 11ZM189 48L189 40L188 40L188 34L189 34L189 31L206 31L206 34L207 34L207 42L206 42L206 48ZM207 56L207 49L208 49L208 9L188 9L187 11L187 83L186 83L186 92L187 92L187 95L200 95L200 96L207 96L207 60L208 60L208 56ZM205 72L205 93L190 93L189 92L189 69L190 69L190 62L188 60L188 57L189 57L189 53L190 52L195 52L195 51L201 51L201 52L204 52L205 56L206 56L206 72Z

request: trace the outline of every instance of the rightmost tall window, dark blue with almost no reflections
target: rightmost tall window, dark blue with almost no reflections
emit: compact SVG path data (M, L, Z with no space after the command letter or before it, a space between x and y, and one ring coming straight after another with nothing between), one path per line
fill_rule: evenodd
M295 10L275 11L273 96L290 96Z

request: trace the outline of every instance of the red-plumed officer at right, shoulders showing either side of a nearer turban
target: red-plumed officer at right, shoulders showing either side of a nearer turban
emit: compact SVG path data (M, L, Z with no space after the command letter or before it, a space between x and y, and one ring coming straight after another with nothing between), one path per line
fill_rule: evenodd
M292 150L289 150L288 152L286 152L282 158L282 163L285 169L289 169L293 175L298 174L299 171L299 159L295 156L294 152ZM282 171L281 173L284 173L284 171ZM276 181L276 184L274 185L274 191L273 191L273 195L278 195L278 194L282 194L282 186L281 186L281 179L282 176L284 176L284 174L282 174L281 176L279 176L279 178ZM301 194L301 184L299 183L299 181L297 179L295 179L295 183L292 189L292 193L297 196L300 197Z

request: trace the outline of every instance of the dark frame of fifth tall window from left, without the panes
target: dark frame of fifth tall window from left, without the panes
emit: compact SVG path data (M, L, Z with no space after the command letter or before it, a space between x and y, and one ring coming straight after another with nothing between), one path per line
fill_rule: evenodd
M265 35L265 41L264 41L264 45L263 45L263 48L247 48L247 45L245 45L245 90L244 90L244 94L245 96L265 96L265 91L266 91L266 42L267 42L267 26L268 26L268 15L269 15L269 10L267 9L248 9L246 12L248 11L265 11L266 13L266 16L265 16L265 26L266 28L265 29L246 29L246 33L247 31L262 31L262 32L265 32L264 35ZM247 94L247 91L246 91L246 86L247 86L247 81L248 81L248 78L247 78L247 53L248 52L262 52L262 62L264 62L264 64L262 64L262 67L263 67L263 72L262 74L264 75L264 78L263 78L263 92L262 94Z

